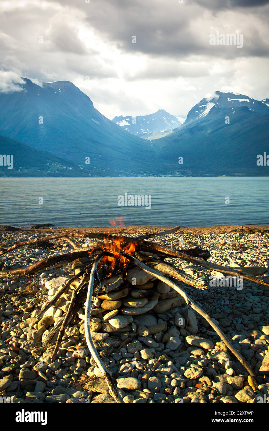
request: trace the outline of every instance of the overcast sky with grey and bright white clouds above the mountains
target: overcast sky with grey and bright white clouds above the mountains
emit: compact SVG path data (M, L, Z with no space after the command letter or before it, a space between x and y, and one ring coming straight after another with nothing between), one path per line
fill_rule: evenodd
M215 90L262 100L268 22L269 0L2 0L0 91L72 81L110 119L187 115ZM209 44L217 32L243 47Z

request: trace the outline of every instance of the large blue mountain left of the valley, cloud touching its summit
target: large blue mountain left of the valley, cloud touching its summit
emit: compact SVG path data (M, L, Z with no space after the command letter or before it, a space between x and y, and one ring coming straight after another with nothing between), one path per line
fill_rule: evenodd
M82 169L88 157L89 168L98 172L148 172L151 145L104 117L72 82L23 81L21 91L0 92L0 135Z

